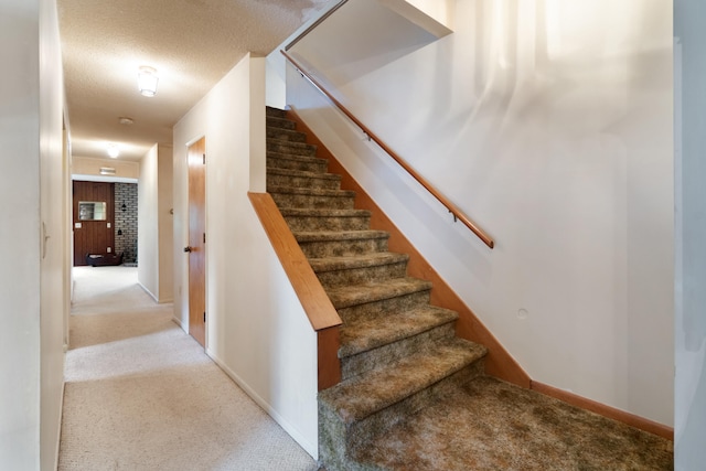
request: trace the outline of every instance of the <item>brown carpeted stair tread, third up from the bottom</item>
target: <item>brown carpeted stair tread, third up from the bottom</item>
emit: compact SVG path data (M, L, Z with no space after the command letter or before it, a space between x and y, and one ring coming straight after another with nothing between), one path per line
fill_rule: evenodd
M406 277L329 288L327 295L336 309L342 309L430 289L430 281Z

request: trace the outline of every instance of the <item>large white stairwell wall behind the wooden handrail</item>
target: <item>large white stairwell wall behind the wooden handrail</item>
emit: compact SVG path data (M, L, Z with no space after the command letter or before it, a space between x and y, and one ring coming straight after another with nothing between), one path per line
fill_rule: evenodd
M292 72L288 103L533 379L671 426L671 2L459 0L434 43L375 8L292 51L495 249Z

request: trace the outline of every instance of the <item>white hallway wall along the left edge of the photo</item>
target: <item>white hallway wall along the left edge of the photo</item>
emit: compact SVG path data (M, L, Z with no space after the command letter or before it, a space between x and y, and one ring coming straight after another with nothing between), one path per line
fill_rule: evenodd
M0 468L51 470L61 421L67 231L53 0L2 3L0 61ZM50 236L44 246L42 227Z

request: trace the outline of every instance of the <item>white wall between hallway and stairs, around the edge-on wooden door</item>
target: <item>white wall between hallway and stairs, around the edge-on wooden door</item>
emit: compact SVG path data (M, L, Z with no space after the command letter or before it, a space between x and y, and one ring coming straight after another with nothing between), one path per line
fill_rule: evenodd
M186 150L206 138L206 352L317 456L317 350L253 211L265 182L265 58L243 58L174 127L174 315L189 329Z

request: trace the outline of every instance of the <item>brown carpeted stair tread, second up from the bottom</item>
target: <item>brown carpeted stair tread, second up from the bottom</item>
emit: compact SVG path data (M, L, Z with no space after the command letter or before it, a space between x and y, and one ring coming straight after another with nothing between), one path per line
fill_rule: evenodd
M378 318L360 318L341 327L339 357L356 355L453 322L454 311L424 306Z

